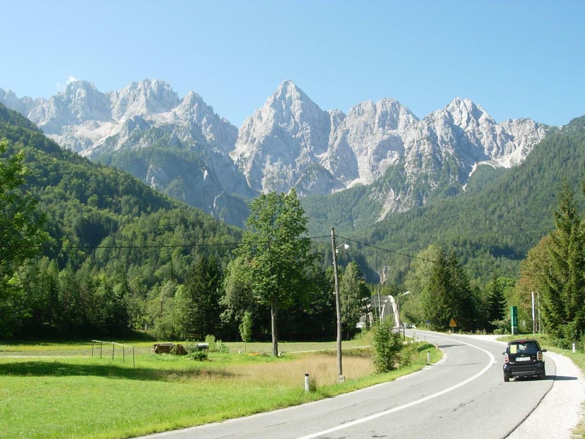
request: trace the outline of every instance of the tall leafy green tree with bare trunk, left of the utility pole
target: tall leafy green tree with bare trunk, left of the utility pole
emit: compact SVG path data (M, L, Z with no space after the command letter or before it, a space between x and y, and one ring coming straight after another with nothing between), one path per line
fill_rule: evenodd
M297 193L262 194L250 204L248 230L236 253L249 263L250 287L259 303L270 306L272 353L278 355L278 311L285 310L295 297L311 288L309 272L317 255L311 253Z

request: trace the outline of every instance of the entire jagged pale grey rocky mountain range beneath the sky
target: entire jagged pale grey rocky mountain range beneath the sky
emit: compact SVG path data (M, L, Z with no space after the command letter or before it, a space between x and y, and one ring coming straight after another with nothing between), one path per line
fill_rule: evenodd
M290 80L239 129L197 93L180 98L160 80L105 93L73 81L48 100L0 88L0 102L64 148L235 225L261 192L294 187L309 200L362 187L345 208L369 205L360 222L367 227L434 193L461 193L481 164L521 163L555 131L524 118L498 124L460 98L422 119L390 98L360 102L347 114L324 111Z

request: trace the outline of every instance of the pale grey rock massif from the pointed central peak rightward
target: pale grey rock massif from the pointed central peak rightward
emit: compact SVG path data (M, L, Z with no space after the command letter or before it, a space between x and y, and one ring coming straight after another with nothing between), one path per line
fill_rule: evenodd
M373 185L384 216L425 203L440 184L464 187L478 163L521 162L549 128L529 119L497 124L460 98L421 120L393 99L361 102L347 115L323 111L287 80L246 119L230 156L261 192Z

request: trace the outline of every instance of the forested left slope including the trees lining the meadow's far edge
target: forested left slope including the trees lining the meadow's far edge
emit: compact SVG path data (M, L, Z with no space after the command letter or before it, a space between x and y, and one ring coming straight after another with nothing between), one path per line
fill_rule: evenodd
M27 169L13 192L36 198L35 214L25 215L47 231L35 257L27 251L25 263L0 263L0 337L107 337L148 327L164 339L237 339L243 311L254 338L269 337L269 307L225 285L241 229L61 149L1 105L0 139L8 139L0 178L11 163ZM8 211L0 211L2 224L11 224ZM0 245L0 262L7 249ZM314 267L310 276L313 293L291 299L280 316L283 338L335 334L331 274ZM355 331L355 323L347 328Z

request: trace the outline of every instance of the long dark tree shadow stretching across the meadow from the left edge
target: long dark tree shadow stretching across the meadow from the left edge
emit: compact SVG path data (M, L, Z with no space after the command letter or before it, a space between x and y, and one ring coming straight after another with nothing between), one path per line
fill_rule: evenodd
M63 362L26 361L0 363L0 376L101 376L145 381L188 380L194 378L222 379L235 373L217 369L173 369L127 368L116 365L80 365Z

